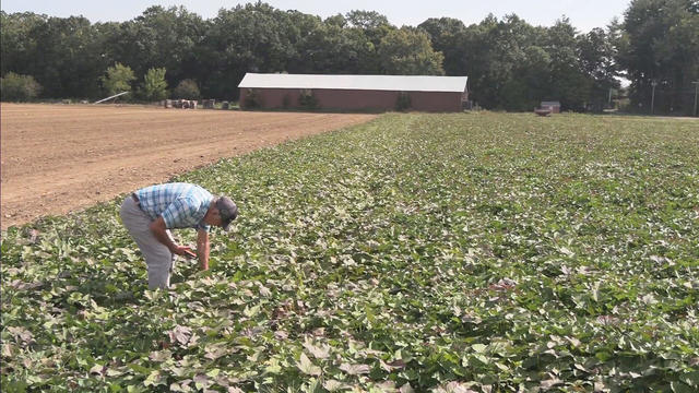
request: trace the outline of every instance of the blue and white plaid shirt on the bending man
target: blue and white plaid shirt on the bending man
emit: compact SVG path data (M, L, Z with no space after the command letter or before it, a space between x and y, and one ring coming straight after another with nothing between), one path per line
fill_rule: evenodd
M213 195L203 188L189 183L151 186L135 192L141 210L152 219L163 216L165 226L173 228L197 228L209 231L203 222Z

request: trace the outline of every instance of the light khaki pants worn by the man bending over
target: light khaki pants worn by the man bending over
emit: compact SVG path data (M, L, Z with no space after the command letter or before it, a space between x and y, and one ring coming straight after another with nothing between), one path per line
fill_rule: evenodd
M145 258L145 265L149 270L149 289L169 287L176 255L151 231L151 217L141 210L131 195L127 196L121 204L119 215L123 226L127 227ZM169 230L167 230L167 236L173 240L173 234Z

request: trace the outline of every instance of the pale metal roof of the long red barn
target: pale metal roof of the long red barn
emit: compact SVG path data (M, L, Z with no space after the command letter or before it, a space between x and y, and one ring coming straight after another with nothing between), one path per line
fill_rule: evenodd
M248 72L238 87L463 93L466 91L467 80L467 76L262 74Z

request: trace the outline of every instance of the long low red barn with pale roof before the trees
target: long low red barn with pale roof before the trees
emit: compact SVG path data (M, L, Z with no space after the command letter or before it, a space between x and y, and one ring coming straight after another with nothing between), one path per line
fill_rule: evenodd
M461 111L467 76L310 75L247 73L244 108Z

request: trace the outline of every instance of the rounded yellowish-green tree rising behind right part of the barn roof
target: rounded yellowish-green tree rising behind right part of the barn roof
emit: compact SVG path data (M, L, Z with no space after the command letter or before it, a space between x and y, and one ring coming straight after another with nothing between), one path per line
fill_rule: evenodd
M381 71L398 75L443 75L441 52L423 31L402 27L387 34L378 48Z

